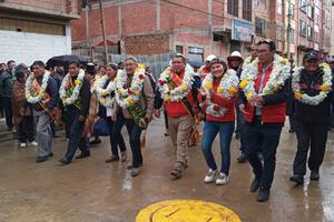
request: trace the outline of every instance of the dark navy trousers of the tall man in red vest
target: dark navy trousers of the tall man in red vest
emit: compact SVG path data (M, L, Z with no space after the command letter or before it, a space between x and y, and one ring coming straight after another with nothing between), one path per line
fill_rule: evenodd
M259 180L261 188L265 190L271 189L274 180L281 132L282 127L262 124L257 119L252 124L245 124L246 155L255 178ZM263 152L264 164L257 155L258 151Z

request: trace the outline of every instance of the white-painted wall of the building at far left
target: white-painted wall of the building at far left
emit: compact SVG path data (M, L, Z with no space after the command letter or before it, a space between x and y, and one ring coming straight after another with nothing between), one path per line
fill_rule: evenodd
M14 60L30 65L35 60L47 62L55 56L71 53L70 26L66 36L36 34L0 30L0 62Z

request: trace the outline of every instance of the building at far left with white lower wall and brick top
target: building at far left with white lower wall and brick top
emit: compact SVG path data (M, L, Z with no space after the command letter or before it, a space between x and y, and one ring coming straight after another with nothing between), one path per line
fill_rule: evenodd
M70 20L79 0L0 0L0 61L31 64L71 53Z

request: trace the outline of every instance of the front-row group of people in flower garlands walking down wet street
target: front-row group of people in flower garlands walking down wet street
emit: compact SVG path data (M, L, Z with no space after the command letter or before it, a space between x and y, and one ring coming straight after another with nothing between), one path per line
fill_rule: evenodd
M125 68L107 64L104 74L97 74L94 64L87 64L84 71L72 61L59 83L43 62L36 61L28 78L24 71L17 73L14 89L24 91L24 97L21 93L16 98L21 102L21 115L26 117L29 108L35 118L37 162L53 155L51 122L61 110L68 138L61 164L71 163L78 148L76 159L90 157L89 138L98 141L99 135L110 137L111 155L106 162L125 162L127 148L121 129L126 125L132 158L128 169L137 176L144 163L143 133L164 108L176 149L171 176L181 178L188 168L188 140L196 123L204 120L202 151L208 167L204 182L224 185L229 181L230 141L237 125L238 162L248 160L254 172L249 191L258 191L257 201L264 202L269 199L286 101L291 97L295 101L297 135L291 180L303 184L307 155L311 180L320 179L333 102L332 70L327 63L320 63L314 53L305 54L303 67L292 69L287 59L276 54L275 43L264 40L252 47L252 54L245 60L239 52L233 52L227 62L209 56L197 73L186 57L177 53L157 80L135 57L126 58ZM32 115L23 118L21 131L28 138ZM106 130L108 133L101 133ZM212 151L217 134L220 167Z

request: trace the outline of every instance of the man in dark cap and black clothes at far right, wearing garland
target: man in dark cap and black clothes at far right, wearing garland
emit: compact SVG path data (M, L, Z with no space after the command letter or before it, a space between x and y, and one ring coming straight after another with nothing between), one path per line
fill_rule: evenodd
M303 65L295 69L292 79L292 90L296 100L297 152L291 181L297 184L304 183L310 149L310 179L320 179L318 170L324 160L331 103L334 99L333 75L328 64L320 64L317 56L308 52L303 58Z

